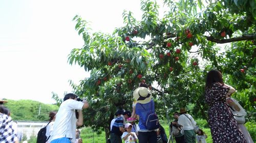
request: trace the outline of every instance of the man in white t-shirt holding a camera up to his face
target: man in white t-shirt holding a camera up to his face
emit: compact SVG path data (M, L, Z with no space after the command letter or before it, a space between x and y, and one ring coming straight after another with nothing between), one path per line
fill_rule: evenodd
M77 96L75 94L69 93L65 95L56 114L50 137L51 143L75 142L76 127L83 124L82 109L89 107L87 101L81 102L76 99ZM76 119L75 110L78 110L78 119Z

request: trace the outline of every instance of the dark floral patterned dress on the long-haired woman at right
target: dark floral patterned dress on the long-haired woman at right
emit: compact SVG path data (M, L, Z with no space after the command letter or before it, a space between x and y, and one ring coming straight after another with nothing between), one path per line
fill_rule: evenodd
M246 142L245 137L226 105L226 94L229 87L214 83L210 89L205 90L205 100L209 105L208 119L211 136L216 142Z

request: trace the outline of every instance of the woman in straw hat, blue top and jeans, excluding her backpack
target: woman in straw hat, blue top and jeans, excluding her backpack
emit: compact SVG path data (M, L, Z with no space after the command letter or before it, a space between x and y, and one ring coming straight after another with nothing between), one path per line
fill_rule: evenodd
M139 119L138 138L140 143L155 143L157 142L157 133L155 130L147 130L145 126L147 113L155 112L155 103L152 100L150 90L145 87L139 87L133 92L133 97L137 101L135 113Z

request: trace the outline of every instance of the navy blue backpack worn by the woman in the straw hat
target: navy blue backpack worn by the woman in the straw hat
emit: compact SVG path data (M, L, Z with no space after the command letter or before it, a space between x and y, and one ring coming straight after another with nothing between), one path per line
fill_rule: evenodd
M151 102L152 105L152 102ZM146 110L143 105L141 104L142 108L144 110ZM153 105L152 105L153 106ZM156 115L155 112L153 112L152 110L150 112L147 113L146 115L146 121L144 122L146 129L148 130L155 130L158 129L160 127L159 125L159 120L158 117Z

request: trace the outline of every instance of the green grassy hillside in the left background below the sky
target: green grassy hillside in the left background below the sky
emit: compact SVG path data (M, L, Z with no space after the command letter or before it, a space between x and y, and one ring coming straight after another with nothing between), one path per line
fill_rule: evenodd
M57 105L44 104L33 100L8 99L8 103L4 105L10 109L14 121L48 121L49 112L58 110ZM40 105L40 115L38 115Z

